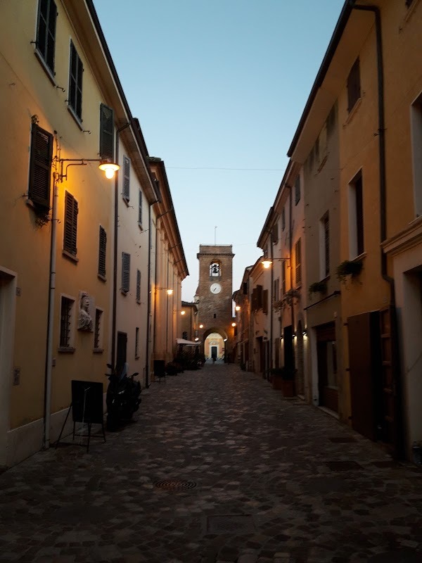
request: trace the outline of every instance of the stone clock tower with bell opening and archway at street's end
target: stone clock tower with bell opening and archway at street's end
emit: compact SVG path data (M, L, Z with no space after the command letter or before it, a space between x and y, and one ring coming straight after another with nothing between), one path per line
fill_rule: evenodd
M229 358L234 346L234 327L231 326L234 253L231 251L231 244L200 244L196 256L199 260L199 285L196 294L198 321L203 325L198 336L203 342L203 350L208 358L214 348L210 344L215 342L220 343L216 345L217 358L222 358L223 355ZM208 336L213 339L212 342L207 341Z

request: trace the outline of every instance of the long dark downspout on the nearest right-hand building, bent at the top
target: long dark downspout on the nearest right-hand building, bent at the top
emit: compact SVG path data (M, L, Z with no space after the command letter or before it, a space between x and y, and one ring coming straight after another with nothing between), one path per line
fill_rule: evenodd
M384 68L383 68L383 42L381 34L381 11L378 6L361 6L354 4L354 10L373 12L376 27L376 57L378 77L378 146L379 146L379 174L380 174L380 251L381 251L381 277L390 288L390 315L392 339L392 373L395 374L393 385L395 388L395 419L397 425L401 424L400 389L398 373L399 341L397 331L397 313L395 304L395 281L387 273L387 255L383 251L382 243L387 238L387 189L385 172L385 113L384 113ZM395 455L402 455L402 440L400 429L395 430L394 447Z

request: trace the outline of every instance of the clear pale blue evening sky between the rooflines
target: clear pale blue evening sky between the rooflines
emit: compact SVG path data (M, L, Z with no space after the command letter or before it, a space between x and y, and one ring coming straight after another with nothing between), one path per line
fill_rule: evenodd
M232 244L233 290L257 248L343 0L94 0L150 156L165 162L189 277ZM217 229L215 229L217 227Z

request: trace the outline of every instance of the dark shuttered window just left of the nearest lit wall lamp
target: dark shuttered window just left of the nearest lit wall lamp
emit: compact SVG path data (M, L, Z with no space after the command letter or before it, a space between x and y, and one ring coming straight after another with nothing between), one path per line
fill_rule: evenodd
M30 184L28 198L39 207L50 208L53 135L32 123Z

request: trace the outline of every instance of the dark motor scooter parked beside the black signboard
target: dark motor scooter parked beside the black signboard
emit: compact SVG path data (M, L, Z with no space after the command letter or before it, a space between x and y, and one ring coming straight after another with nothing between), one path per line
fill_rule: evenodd
M141 384L135 381L138 372L131 376L127 374L128 365L114 367L107 364L110 373L106 396L107 404L107 429L116 431L125 422L129 422L141 403Z

